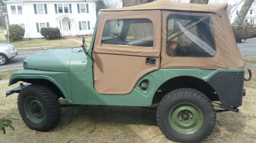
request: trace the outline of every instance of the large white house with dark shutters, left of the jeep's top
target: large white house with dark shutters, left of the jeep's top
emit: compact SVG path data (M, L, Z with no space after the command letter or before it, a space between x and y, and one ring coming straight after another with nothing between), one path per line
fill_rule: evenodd
M94 30L93 0L9 0L4 3L10 24L22 26L24 38L42 38L42 27L58 27L62 36L88 35Z

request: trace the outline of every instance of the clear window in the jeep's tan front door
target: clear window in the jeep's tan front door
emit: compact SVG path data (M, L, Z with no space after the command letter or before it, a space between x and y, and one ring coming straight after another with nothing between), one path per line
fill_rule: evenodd
M108 20L101 43L153 47L153 23L149 19Z

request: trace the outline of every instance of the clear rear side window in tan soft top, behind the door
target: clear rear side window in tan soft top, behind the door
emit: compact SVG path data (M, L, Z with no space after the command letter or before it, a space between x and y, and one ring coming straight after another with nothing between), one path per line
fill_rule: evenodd
M171 14L167 24L166 53L169 56L211 57L216 54L209 16Z

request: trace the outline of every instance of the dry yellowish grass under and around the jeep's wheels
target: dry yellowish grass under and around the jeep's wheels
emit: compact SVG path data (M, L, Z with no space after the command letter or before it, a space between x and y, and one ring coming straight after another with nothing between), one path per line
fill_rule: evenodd
M252 70L256 77L256 69ZM0 84L1 117L17 118L16 131L0 133L0 142L172 142L156 123L156 111L139 107L76 106L62 108L59 125L50 132L29 129L19 116L17 94L5 98L5 91L16 87ZM255 142L256 78L245 83L247 90L240 112L217 113L214 132L203 142Z

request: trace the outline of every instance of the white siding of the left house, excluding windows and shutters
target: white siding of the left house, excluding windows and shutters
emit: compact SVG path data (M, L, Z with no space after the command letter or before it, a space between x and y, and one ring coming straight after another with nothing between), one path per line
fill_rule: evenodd
M47 11L47 14L39 14L37 9L37 14L35 14L35 8L34 4L38 5L47 5L47 10L44 10L44 12ZM58 6L58 4L62 4L63 13L57 13L55 12L55 4ZM69 13L64 12L63 5L67 4L69 7ZM72 13L70 12L70 4ZM77 4L88 4L89 13L78 13ZM63 15L69 15L74 18L73 25L72 22L70 22L71 28L74 28L72 30L72 35L89 35L93 33L94 26L96 23L96 10L95 10L95 2L94 1L17 1L15 3L6 3L7 10L9 13L9 22L10 24L25 24L25 37L24 38L43 38L40 33L37 32L37 26L36 23L40 25L40 23L46 23L49 22L50 27L58 27L60 29L59 21L56 20L56 18L63 16ZM23 15L12 15L11 13L11 6L16 7L22 6L23 7ZM58 10L57 10L58 11ZM17 13L17 12L16 12ZM90 30L79 30L79 21L90 21ZM61 27L65 28L66 27ZM60 30L61 33L63 33L63 30ZM62 35L63 36L63 35Z

